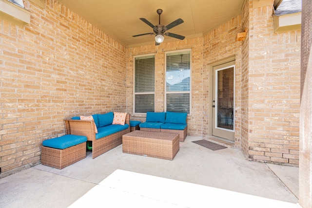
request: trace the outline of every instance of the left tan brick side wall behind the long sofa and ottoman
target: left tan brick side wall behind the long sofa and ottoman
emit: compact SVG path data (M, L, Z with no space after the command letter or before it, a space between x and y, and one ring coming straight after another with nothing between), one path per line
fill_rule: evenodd
M24 4L30 24L0 19L1 173L39 163L64 118L126 110L125 47L56 0Z

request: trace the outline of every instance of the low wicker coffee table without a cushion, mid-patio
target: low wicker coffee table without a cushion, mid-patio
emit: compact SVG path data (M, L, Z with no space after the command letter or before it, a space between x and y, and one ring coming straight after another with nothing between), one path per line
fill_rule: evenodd
M173 160L180 149L179 134L134 131L122 136L122 152Z

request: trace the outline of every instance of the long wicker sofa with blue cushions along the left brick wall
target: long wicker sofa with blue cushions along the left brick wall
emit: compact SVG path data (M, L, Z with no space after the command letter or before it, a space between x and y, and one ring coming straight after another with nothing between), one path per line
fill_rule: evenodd
M96 158L122 144L122 135L130 132L130 114L126 114L124 125L113 124L113 112L92 117L93 120L80 120L77 116L64 122L67 134L83 135L92 141L92 158Z

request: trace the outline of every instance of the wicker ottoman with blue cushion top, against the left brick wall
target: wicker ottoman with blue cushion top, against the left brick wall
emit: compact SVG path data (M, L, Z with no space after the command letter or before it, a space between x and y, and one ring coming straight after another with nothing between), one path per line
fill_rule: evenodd
M41 164L63 169L86 157L86 136L67 134L42 142Z

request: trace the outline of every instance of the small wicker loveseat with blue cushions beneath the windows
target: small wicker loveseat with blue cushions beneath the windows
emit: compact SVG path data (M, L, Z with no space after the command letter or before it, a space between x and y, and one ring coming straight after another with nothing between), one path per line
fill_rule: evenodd
M141 131L179 134L179 141L187 136L187 113L147 112L146 121L139 125Z

